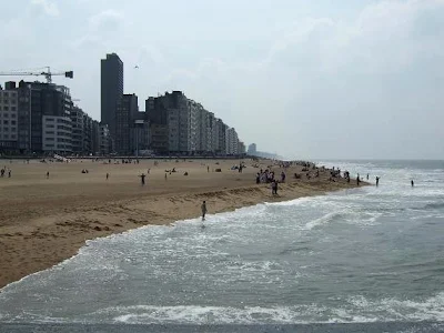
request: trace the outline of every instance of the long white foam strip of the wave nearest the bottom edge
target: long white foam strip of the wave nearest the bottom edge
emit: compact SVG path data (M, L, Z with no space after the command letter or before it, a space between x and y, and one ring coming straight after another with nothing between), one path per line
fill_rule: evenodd
M128 324L260 324L260 323L366 323L394 321L444 321L444 293L427 300L350 297L343 306L319 304L294 306L154 306L138 305L108 309L113 322ZM98 313L99 316L104 313Z

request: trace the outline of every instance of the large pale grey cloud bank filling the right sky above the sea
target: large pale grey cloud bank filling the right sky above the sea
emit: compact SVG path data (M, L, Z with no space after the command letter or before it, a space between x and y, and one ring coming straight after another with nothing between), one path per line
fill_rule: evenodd
M444 83L443 21L443 0L379 1L353 20L287 24L259 61L202 58L169 79L210 101L205 105L242 139L263 149L323 158L437 157L444 149L424 142L444 140L428 123L444 121L436 109L444 103L436 91ZM273 141L252 131L264 120L279 129Z

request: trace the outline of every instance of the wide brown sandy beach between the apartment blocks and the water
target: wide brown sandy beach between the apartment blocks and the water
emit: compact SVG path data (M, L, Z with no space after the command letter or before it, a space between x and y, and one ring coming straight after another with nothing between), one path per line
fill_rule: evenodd
M11 178L0 179L0 287L74 255L87 240L196 218L202 200L213 214L356 185L344 179L329 181L329 170L319 178L307 179L303 172L301 179L294 179L303 168L296 165L285 171L286 182L273 196L270 184L255 184L255 174L271 165L269 160L244 160L242 173L230 170L238 160L158 160L158 165L154 161L28 164L1 160L1 168L11 169ZM167 173L165 179L165 170L172 168L178 172ZM222 172L214 172L218 168ZM83 169L88 173L82 173ZM139 175L148 169L142 186ZM279 165L272 170L276 175L282 171Z

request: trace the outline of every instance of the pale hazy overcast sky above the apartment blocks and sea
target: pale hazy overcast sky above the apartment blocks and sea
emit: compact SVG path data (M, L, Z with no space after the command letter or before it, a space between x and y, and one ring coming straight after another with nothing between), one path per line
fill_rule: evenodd
M115 52L140 110L181 90L261 151L444 159L444 0L0 4L0 71L73 70L53 81L93 119L100 59Z

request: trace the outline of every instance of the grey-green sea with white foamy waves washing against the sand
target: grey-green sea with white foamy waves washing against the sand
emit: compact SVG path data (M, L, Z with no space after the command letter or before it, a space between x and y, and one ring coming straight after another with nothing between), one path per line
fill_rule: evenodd
M444 161L316 164L372 185L88 241L0 332L444 332Z

